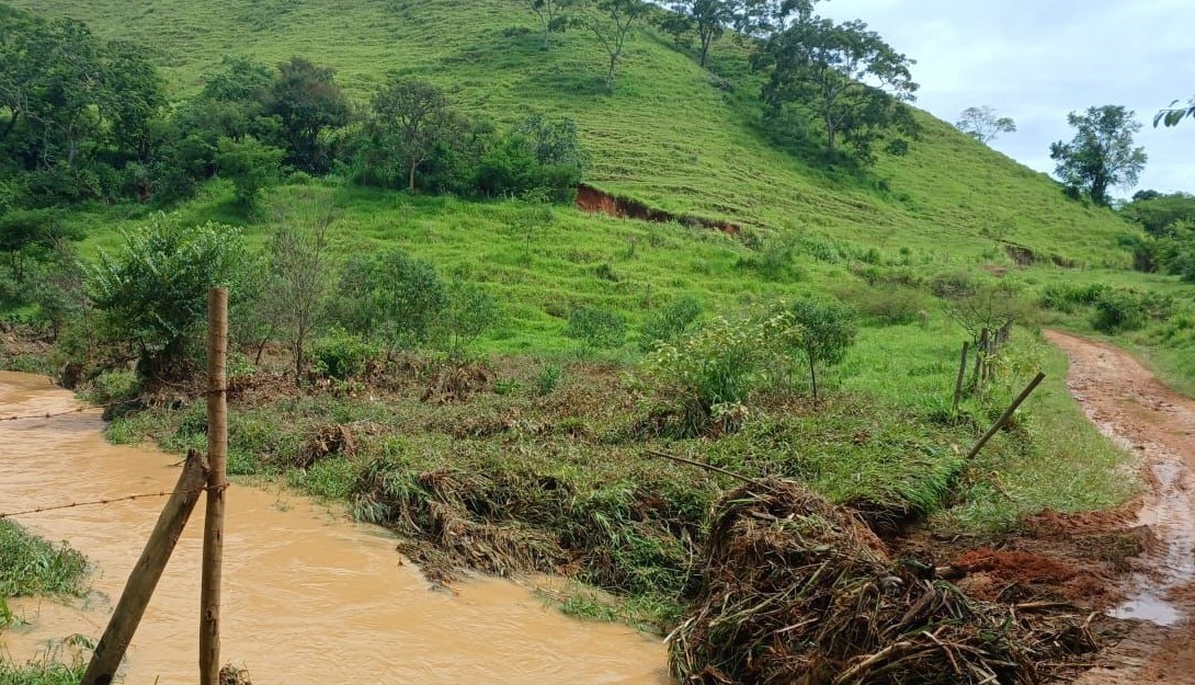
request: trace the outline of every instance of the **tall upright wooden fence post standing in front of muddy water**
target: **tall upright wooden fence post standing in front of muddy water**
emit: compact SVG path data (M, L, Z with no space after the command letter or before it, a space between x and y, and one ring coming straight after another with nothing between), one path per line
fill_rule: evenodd
M208 502L200 589L200 685L220 683L220 579L223 564L225 461L228 457L228 290L208 293Z

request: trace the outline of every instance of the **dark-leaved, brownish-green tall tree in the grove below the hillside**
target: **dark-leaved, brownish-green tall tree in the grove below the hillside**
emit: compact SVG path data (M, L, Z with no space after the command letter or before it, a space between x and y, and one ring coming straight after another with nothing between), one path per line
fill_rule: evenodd
M288 160L311 172L327 167L320 133L349 121L349 104L335 75L331 67L290 57L278 65L278 73L264 94L264 114L281 120Z

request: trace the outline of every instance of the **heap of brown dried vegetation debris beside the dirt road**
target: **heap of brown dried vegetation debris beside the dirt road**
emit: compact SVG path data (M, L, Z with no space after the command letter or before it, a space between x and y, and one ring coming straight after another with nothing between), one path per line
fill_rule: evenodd
M974 600L791 481L728 494L693 574L669 636L684 684L1029 685L1097 649L1091 614Z

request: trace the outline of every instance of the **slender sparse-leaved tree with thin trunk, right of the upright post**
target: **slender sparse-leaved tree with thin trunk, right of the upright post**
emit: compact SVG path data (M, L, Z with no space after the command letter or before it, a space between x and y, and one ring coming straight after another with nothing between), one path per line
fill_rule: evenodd
M330 228L335 219L331 197L308 194L298 203L280 203L266 249L270 275L259 312L269 326L266 337L275 331L286 336L295 383L302 379L306 342L324 313L332 285Z

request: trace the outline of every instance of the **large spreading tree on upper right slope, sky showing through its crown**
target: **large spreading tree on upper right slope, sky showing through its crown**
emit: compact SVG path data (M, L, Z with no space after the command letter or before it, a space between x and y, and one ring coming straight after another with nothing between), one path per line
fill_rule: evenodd
M804 10L753 59L756 69L770 73L762 96L774 114L789 106L808 111L825 130L828 154L845 141L864 163L872 160L881 132L917 130L903 105L918 88L912 65L863 22L834 24Z

